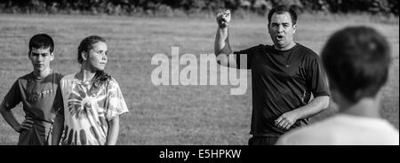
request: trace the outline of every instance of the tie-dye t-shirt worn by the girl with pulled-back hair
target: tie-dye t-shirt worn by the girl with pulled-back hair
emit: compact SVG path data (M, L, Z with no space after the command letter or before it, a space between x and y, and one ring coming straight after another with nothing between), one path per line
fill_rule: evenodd
M108 120L128 112L121 89L114 78L95 89L75 76L60 82L65 116L61 144L106 144Z

